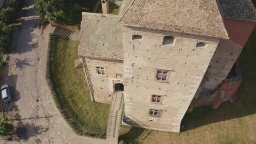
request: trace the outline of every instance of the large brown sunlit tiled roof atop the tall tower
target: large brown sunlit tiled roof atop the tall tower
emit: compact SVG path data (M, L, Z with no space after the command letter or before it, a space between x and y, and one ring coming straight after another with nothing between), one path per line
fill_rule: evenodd
M118 24L229 38L216 0L125 0Z

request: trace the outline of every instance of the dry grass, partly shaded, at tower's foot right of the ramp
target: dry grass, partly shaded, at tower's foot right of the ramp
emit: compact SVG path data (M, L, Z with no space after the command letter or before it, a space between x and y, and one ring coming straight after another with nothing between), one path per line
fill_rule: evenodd
M184 132L122 126L120 140L143 144L256 144L256 29L241 54L243 83L239 99L218 109L198 107L182 120Z

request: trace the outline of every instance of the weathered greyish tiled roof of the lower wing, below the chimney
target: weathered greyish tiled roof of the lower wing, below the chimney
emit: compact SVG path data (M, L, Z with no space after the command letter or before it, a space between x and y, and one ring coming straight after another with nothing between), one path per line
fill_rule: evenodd
M82 13L78 55L123 60L123 42L117 15Z

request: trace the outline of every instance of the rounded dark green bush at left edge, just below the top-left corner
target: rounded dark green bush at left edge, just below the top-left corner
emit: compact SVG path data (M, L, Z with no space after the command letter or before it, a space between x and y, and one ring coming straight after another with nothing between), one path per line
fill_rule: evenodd
M0 12L0 21L11 24L15 20L15 11L11 7L3 8Z

